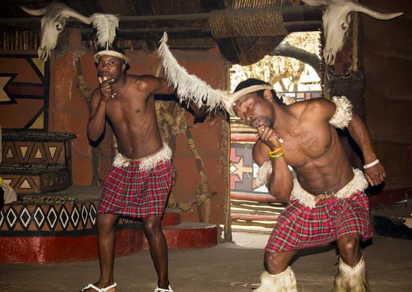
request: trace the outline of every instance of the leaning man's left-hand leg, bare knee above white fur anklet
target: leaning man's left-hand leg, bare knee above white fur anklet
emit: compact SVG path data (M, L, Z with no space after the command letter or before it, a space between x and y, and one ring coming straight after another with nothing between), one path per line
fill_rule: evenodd
M267 271L262 273L260 287L256 292L297 291L295 275L289 267L295 254L297 251L265 252L264 265Z

